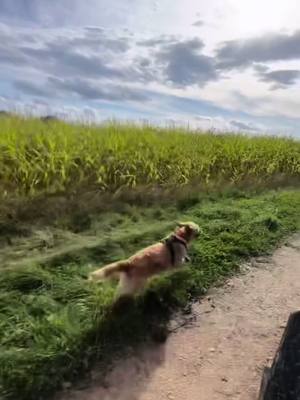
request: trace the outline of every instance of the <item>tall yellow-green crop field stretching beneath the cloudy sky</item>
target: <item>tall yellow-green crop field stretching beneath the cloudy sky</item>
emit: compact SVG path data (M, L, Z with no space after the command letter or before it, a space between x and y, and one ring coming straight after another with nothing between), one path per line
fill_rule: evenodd
M85 187L116 191L247 178L270 181L278 175L300 180L299 141L150 126L0 120L3 196Z

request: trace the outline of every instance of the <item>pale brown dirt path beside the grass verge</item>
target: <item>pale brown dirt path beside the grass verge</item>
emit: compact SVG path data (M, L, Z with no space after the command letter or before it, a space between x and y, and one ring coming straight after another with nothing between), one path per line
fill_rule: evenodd
M165 345L120 361L105 387L95 371L88 389L61 399L257 400L262 368L300 308L300 237L252 267L195 304L194 322Z

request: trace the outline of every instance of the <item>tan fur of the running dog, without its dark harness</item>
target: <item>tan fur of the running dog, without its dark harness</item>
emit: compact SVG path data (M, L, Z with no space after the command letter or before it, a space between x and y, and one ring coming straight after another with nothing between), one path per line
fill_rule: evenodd
M193 222L180 223L174 232L188 244L199 234L198 225ZM158 242L135 253L127 260L106 265L89 276L89 280L100 281L107 278L119 278L117 294L131 295L145 285L148 278L172 268L181 266L187 258L186 247L180 243L173 243L174 264L170 249L164 242Z

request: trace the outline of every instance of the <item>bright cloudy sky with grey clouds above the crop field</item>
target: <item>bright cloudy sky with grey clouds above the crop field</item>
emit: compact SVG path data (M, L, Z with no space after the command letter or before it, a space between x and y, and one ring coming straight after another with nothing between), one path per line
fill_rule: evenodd
M0 0L0 109L300 137L298 0Z

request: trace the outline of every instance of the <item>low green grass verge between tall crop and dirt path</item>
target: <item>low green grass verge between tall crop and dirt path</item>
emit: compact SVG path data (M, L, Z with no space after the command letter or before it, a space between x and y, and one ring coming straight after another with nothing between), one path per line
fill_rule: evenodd
M226 142L223 137L213 140ZM232 137L228 143L243 140ZM251 147L250 139L248 143ZM80 232L32 228L27 237L13 236L13 242L1 248L2 396L46 398L95 360L105 366L126 345L147 338L174 309L236 272L241 260L271 251L299 229L300 191L236 191L210 199L181 199L177 207L127 206L122 213L90 218ZM153 279L145 293L116 316L111 309L114 285L89 284L88 272L158 240L181 218L203 229L191 247L191 265Z

